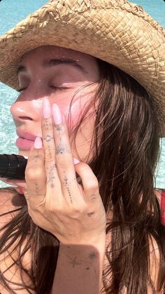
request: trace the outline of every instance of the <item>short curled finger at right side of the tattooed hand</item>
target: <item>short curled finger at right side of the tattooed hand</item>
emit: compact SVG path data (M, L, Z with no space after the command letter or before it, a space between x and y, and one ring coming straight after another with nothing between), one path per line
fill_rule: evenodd
M94 175L92 168L90 168L87 163L80 162L76 164L75 169L76 173L78 173L82 180L85 200L94 201L100 199L99 182L96 175Z

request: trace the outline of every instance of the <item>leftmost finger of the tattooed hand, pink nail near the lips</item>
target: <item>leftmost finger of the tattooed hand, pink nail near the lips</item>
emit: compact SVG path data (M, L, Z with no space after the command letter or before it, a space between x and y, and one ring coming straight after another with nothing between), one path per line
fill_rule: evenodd
M34 148L29 152L25 180L27 182L28 199L31 205L39 205L45 198L46 175L44 165L44 150L41 138L34 141Z

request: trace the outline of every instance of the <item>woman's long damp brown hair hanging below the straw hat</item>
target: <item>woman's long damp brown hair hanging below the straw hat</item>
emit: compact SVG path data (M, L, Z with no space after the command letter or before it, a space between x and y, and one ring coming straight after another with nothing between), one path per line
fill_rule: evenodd
M99 180L106 212L113 209L113 220L107 224L107 233L111 232L112 238L106 251L109 265L103 269L103 284L108 294L120 293L125 288L129 294L145 294L148 286L156 293L165 288L165 229L154 189L160 136L157 114L152 98L138 81L106 62L98 60L98 64L99 87L72 135L76 138L89 108L97 105L91 145L94 156L89 165ZM13 250L20 255L14 262L20 273L29 275L31 289L38 294L50 293L59 241L34 224L26 205L3 230L0 255L6 250L11 254L15 243ZM162 260L157 289L150 279L151 237L157 242ZM22 257L30 248L31 268L27 271ZM3 274L0 283L9 288ZM22 285L31 293L23 279Z

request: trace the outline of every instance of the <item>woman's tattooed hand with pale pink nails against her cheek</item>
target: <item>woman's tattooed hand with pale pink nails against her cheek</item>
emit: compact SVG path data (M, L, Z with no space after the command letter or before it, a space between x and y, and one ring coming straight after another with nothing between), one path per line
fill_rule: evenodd
M50 107L48 100L43 107L45 104ZM106 212L98 180L86 163L73 164L65 119L57 105L53 105L52 112L54 122L52 115L42 118L43 146L41 138L36 138L29 152L24 191L29 215L61 243L104 242ZM82 185L78 184L76 173Z

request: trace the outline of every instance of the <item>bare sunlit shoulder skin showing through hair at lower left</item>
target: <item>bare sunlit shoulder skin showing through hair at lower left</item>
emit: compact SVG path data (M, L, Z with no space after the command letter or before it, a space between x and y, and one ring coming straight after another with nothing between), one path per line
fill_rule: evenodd
M3 228L4 225L6 225L10 220L12 220L15 215L19 211L17 211L17 208L20 208L25 205L25 199L24 196L17 194L17 192L10 190L10 189L0 189L0 229ZM0 237L3 234L3 231L0 232ZM15 246L15 244L13 244ZM9 253L9 251L4 252L0 255L0 270L3 272L3 275L6 279L8 279L8 286L10 286L13 290L16 290L16 293L25 294L29 293L24 288L21 288L21 286L14 286L13 283L22 283L22 279L20 276L20 268L17 267L15 263L13 263L13 260L17 258L17 252L13 252L12 254ZM29 269L30 266L30 254L27 252L27 254L24 256L24 260L22 260L22 263L26 269ZM22 272L22 276L24 278L24 281L27 285L31 286L31 281L29 279L29 276ZM9 290L7 290L6 287L2 286L0 283L0 292L3 294L10 293ZM32 291L31 291L32 293ZM35 293L35 292L33 292Z

